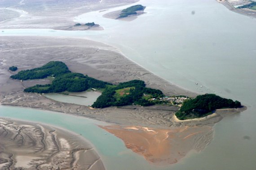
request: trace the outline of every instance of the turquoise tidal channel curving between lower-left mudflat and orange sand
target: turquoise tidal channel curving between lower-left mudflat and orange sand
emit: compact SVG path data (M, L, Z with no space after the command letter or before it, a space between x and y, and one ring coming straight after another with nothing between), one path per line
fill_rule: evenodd
M3 117L44 123L83 135L96 148L107 170L169 170L168 167L150 165L143 157L127 149L121 139L97 126L108 125L105 122L51 111L0 105L0 118Z

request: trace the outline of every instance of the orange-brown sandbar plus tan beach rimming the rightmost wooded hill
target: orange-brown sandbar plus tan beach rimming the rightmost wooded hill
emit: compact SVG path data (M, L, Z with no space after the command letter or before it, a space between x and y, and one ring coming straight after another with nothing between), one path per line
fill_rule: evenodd
M202 151L213 139L213 125L225 115L239 113L240 109L219 109L212 115L181 121L172 114L169 128L143 126L100 126L124 141L127 148L142 155L155 165L177 163L191 150Z

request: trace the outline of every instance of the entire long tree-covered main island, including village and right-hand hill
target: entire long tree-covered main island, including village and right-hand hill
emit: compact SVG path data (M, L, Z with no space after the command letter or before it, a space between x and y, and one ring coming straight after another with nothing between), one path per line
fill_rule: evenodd
M65 63L50 61L42 67L22 70L11 78L19 80L51 78L52 83L35 85L24 89L24 92L53 93L53 92L83 92L89 88L102 90L102 95L93 103L93 108L110 106L155 104L181 105L176 113L177 118L184 120L200 118L211 114L215 109L241 107L239 101L224 99L214 94L199 95L192 99L186 96L165 96L158 89L148 88L142 80L131 80L113 85L88 75L72 73Z

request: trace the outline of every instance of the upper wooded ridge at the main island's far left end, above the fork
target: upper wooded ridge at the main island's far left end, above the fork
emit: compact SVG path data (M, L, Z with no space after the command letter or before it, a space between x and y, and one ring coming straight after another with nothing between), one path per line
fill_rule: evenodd
M22 70L18 74L12 75L11 78L19 80L28 80L28 79L39 79L47 78L48 76L57 77L62 74L71 72L68 70L65 63L61 61L50 61L42 67L31 69L31 70Z

